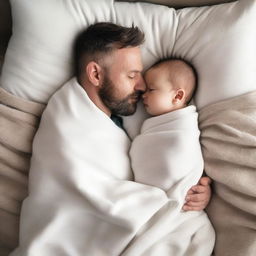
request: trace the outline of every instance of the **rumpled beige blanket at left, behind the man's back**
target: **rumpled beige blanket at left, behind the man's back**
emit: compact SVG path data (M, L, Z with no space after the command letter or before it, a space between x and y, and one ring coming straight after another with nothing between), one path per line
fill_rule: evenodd
M0 88L0 255L17 246L19 214L27 195L32 140L43 104L25 101Z

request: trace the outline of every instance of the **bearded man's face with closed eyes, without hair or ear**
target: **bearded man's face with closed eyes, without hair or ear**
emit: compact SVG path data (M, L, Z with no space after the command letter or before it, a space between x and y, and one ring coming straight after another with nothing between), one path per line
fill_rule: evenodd
M140 49L119 49L109 58L99 96L112 114L132 115L145 91Z

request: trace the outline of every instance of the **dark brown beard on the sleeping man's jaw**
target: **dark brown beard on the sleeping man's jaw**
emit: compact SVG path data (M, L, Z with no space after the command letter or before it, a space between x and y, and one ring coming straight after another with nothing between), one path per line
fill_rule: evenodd
M111 113L122 116L129 116L135 113L140 95L141 93L137 91L123 99L117 98L115 96L114 83L109 79L108 75L105 75L103 86L99 90L99 96L102 102L111 111ZM134 99L134 101L129 102L130 99Z

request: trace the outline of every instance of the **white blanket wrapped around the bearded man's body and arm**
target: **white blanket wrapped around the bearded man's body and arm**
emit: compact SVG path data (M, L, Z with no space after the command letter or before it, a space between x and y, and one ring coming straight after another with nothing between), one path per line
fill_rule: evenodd
M76 79L64 85L34 138L20 247L11 255L120 255L172 204L161 189L131 181L129 147L126 133Z

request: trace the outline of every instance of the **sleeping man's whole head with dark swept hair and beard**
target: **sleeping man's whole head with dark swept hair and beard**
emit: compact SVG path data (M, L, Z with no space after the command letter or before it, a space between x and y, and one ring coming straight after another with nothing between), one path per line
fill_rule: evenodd
M96 23L75 42L78 82L107 114L130 115L145 90L139 46L144 34L137 27Z

